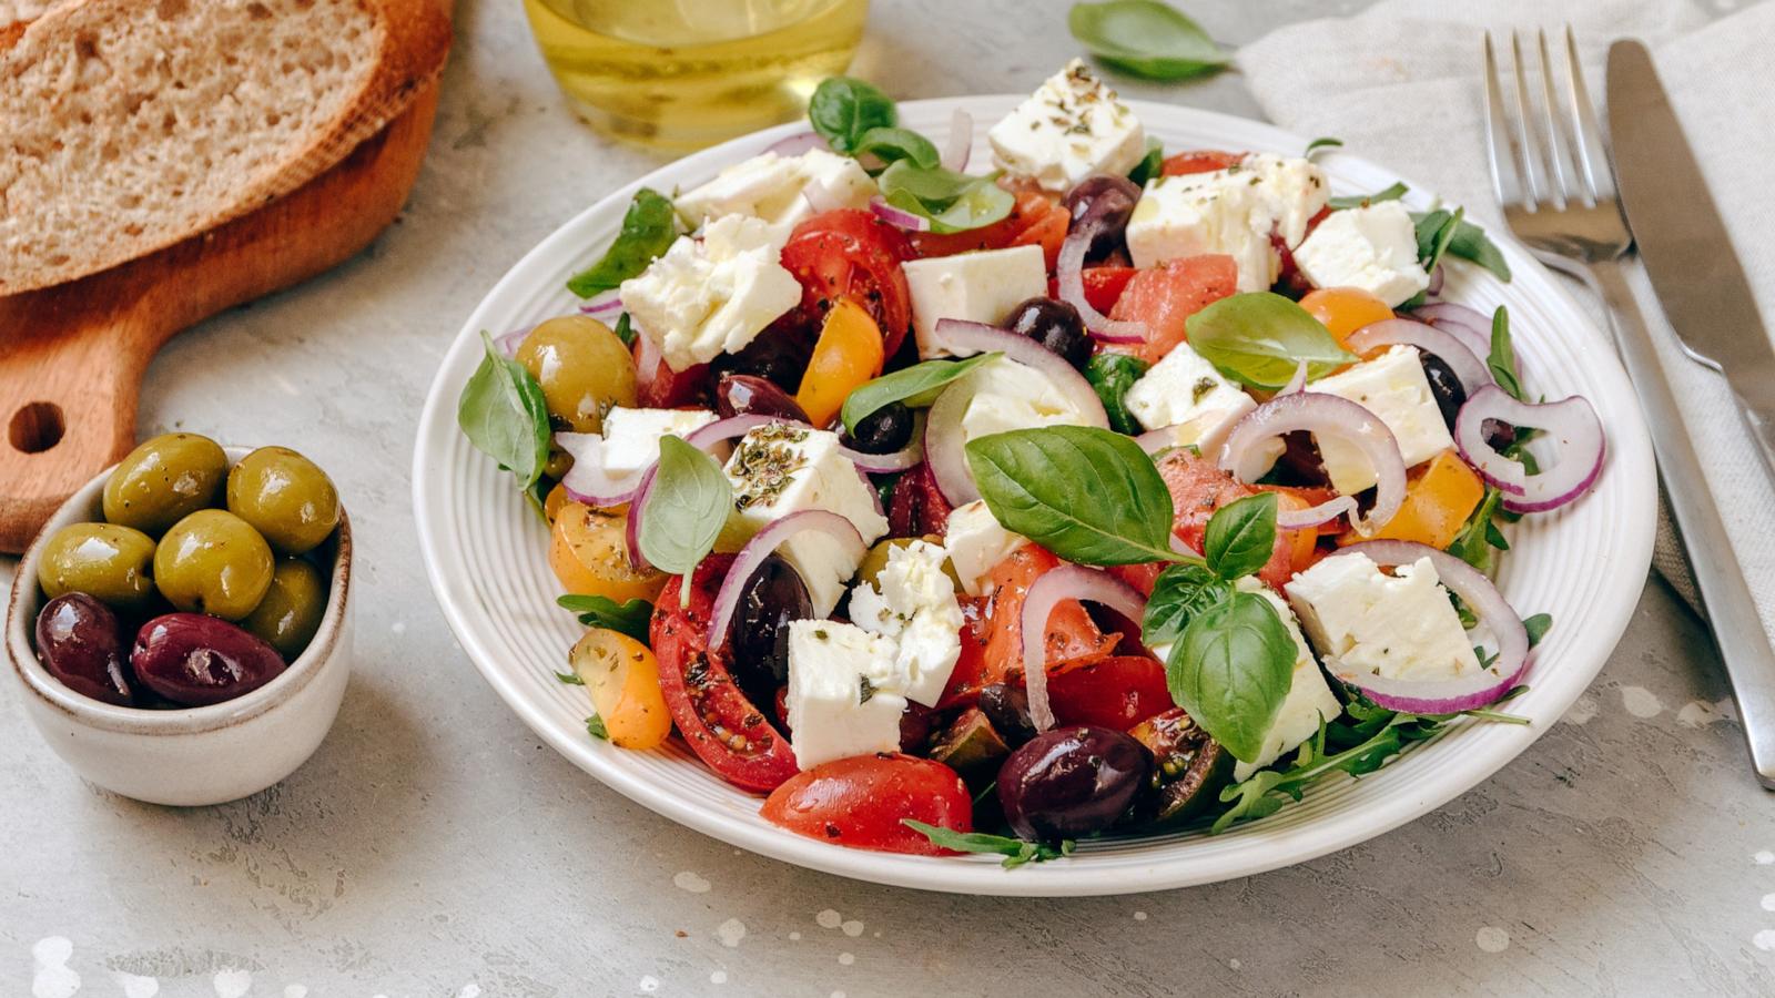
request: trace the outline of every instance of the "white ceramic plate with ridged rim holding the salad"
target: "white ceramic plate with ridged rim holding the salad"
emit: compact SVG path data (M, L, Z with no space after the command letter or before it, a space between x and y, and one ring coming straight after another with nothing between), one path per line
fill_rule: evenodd
M955 108L974 119L974 162L985 128L1019 98L957 98L900 105L907 126L937 144ZM1132 101L1166 149L1257 149L1299 154L1306 140L1253 121ZM431 586L462 646L493 689L538 735L575 765L655 812L733 845L809 867L925 890L999 895L1102 895L1202 884L1324 856L1416 819L1480 783L1546 732L1596 678L1638 600L1651 561L1656 488L1638 405L1606 339L1564 288L1516 243L1491 233L1516 279L1475 266L1450 268L1445 298L1489 313L1511 307L1516 350L1535 394L1583 394L1608 428L1608 463L1596 490L1514 529L1498 582L1523 614L1551 613L1535 652L1530 691L1511 710L1516 725L1461 725L1360 781L1338 776L1299 804L1219 836L1166 835L1088 842L1065 861L1003 870L998 858L918 858L827 845L758 817L758 797L705 769L676 741L634 753L586 735L586 691L554 673L579 638L557 609L545 561L547 531L493 462L456 430L456 396L481 360L479 330L502 332L573 311L568 275L614 238L635 188L689 188L722 165L802 130L785 124L671 163L612 192L557 229L513 266L463 323L426 400L414 453L414 515ZM1475 153L1477 154L1477 153ZM1338 194L1381 190L1400 179L1347 153L1322 156ZM1427 206L1415 183L1408 202Z

